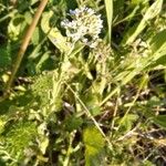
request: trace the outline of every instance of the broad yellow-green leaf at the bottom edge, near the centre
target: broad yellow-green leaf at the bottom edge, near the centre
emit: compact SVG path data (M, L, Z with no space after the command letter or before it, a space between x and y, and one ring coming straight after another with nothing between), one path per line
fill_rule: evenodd
M83 141L85 144L85 166L103 165L103 147L104 138L94 126L86 127L83 132Z

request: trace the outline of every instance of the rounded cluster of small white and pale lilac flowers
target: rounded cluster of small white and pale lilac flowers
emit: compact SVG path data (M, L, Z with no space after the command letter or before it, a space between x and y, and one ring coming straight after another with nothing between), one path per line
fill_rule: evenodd
M65 19L61 22L61 25L66 30L66 35L72 42L80 40L85 45L95 48L103 28L101 14L96 14L91 8L81 7L80 9L70 10L69 15L72 21Z

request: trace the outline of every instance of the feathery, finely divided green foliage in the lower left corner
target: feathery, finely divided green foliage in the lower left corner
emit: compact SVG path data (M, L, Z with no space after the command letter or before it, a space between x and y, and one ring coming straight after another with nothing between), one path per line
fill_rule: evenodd
M33 122L17 122L7 127L0 135L0 156L12 157L15 162L22 162L24 151L35 141L37 127ZM3 151L2 151L3 149ZM2 153L4 152L4 154ZM7 156L7 157L8 157Z

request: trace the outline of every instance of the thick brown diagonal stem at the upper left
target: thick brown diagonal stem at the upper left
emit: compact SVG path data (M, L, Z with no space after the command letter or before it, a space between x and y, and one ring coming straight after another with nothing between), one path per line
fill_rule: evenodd
M31 37L32 37L33 32L34 32L34 29L35 29L35 27L37 27L37 24L38 24L38 22L39 22L39 19L40 19L40 17L41 17L41 14L42 14L42 12L43 12L43 10L44 10L44 8L45 8L48 1L49 1L49 0L42 0L42 1L40 2L40 6L39 6L39 8L38 8L35 14L34 14L34 18L33 18L33 20L32 20L32 23L30 24L30 27L29 27L29 29L28 29L28 31L27 31L27 33L25 33L25 35L24 35L23 42L22 42L22 44L21 44L21 46L20 46L20 50L19 50L19 52L18 52L17 60L15 60L15 62L14 62L14 64L13 64L13 68L12 68L12 73L11 73L11 75L10 75L10 79L9 79L9 81L8 81L8 83L7 83L7 87L6 87L6 90L4 90L4 96L8 96L9 92L10 92L10 89L11 89L11 85L12 85L12 83L13 83L14 76L15 76L15 74L17 74L17 72L18 72L18 70L19 70L19 68L20 68L20 64L21 64L21 61L22 61L23 55L24 55L24 53L25 53L25 50L27 50L27 48L28 48L28 45L29 45L29 42L30 42L30 40L31 40Z

